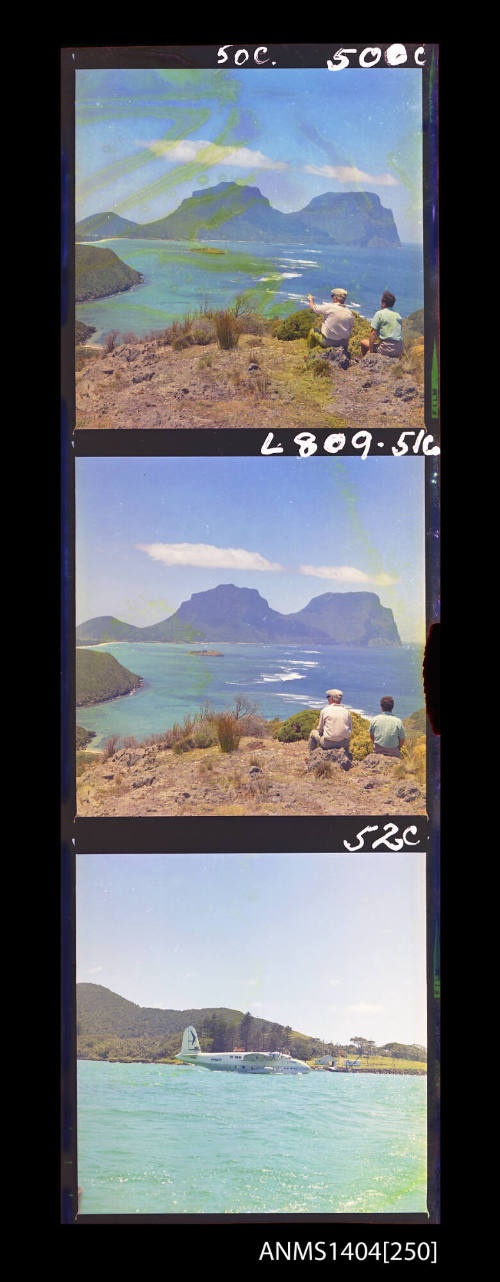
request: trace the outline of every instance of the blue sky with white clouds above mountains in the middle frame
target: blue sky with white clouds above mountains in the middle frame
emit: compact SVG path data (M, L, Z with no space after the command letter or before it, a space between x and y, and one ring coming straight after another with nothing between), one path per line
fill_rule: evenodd
M422 459L77 459L77 623L144 627L192 592L254 587L288 614L376 592L424 640Z

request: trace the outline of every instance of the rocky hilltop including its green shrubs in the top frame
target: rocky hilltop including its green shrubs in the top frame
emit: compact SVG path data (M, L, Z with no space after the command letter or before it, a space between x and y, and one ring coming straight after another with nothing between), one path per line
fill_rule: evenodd
M349 362L331 359L335 349L309 353L308 308L285 319L235 313L229 349L218 342L218 319L204 312L146 338L127 333L118 344L108 336L103 347L77 346L77 428L424 427L422 312L403 322L401 360L360 359L371 329L362 317Z

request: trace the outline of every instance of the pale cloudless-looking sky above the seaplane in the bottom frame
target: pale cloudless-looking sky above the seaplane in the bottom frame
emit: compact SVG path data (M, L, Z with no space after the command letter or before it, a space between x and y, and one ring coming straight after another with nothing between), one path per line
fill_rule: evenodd
M77 982L427 1044L422 855L81 855Z

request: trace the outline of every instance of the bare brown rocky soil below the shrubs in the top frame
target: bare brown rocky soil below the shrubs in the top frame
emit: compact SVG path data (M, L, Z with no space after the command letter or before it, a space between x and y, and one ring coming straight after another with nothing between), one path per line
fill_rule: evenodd
M94 353L76 374L78 429L424 426L423 387L408 362L369 355L318 377L303 338L245 335L231 351L214 342L174 351L155 338L106 355L78 351Z

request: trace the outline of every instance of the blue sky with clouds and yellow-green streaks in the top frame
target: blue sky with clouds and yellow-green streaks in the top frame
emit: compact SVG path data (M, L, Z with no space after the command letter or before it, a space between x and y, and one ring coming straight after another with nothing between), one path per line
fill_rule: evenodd
M77 72L77 219L162 218L194 190L258 186L283 212L373 191L422 240L422 72Z

